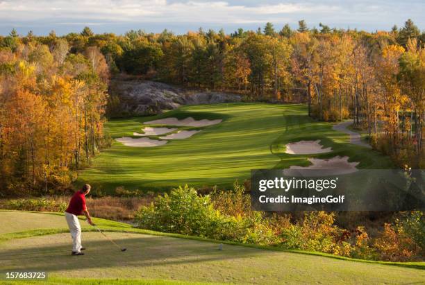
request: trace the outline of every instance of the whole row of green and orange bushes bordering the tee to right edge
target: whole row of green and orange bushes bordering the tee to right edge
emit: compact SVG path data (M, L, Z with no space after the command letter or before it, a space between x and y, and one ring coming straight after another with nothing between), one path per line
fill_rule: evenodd
M149 230L360 259L415 260L420 253L417 245L424 245L420 211L406 214L397 225L387 225L379 239L370 239L363 226L354 232L338 227L332 212L307 211L291 220L288 214L253 211L244 187L237 183L233 190L215 189L211 196L202 196L187 185L178 187L135 215L136 225Z

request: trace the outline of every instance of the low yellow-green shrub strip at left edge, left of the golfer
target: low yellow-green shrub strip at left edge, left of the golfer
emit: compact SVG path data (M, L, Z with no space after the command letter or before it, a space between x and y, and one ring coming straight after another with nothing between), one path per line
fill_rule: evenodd
M6 209L21 211L58 211L67 209L65 202L56 202L46 198L8 200L4 203Z

